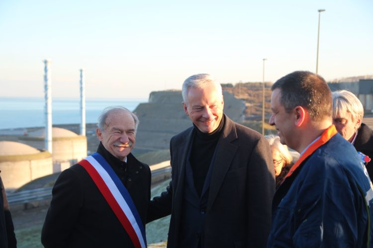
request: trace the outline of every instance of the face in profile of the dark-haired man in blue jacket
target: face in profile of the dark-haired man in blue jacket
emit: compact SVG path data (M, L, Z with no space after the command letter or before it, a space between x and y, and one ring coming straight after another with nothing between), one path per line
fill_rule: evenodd
M281 90L276 88L271 96L272 115L270 125L276 125L277 135L280 137L280 142L283 145L295 149L293 144L295 120L292 113L287 113L285 108L280 103Z

